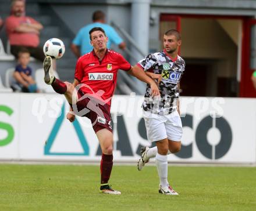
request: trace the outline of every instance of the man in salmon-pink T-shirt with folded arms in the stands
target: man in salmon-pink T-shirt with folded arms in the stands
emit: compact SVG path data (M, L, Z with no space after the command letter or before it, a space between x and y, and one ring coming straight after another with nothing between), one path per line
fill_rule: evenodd
M44 61L44 52L38 46L42 24L31 17L24 16L24 12L24 0L13 0L11 15L5 21L10 52L17 58L20 49L26 47L31 56Z

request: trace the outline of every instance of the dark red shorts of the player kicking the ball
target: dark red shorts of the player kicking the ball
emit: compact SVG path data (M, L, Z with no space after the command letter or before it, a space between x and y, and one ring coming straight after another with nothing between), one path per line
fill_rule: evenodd
M74 113L80 117L90 119L95 133L104 128L112 132L110 105L104 104L94 97L87 96L80 90L77 94L79 101L77 101L76 105L70 104Z

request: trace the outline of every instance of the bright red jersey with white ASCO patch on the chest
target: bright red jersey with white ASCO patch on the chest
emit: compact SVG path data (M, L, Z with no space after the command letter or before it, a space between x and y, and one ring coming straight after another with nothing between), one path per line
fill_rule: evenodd
M111 105L119 69L131 69L130 63L121 54L107 49L103 59L99 60L92 51L77 60L74 78L80 82L80 90L85 94L93 94L97 99Z

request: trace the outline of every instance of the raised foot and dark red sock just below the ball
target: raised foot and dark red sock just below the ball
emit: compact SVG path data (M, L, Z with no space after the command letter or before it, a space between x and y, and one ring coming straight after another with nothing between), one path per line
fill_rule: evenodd
M56 93L65 94L67 91L67 85L61 80L55 78L54 70L52 68L51 56L45 57L43 67L44 67L44 82L47 83L48 85L51 85L52 88L54 88Z

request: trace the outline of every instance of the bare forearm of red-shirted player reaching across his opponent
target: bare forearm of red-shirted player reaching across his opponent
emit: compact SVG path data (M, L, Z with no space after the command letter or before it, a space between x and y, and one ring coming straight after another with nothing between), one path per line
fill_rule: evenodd
M145 83L148 83L150 85L151 88L151 96L158 96L160 95L159 89L157 84L155 83L155 81L150 78L147 74L145 74L145 71L143 69L141 69L140 67L133 66L131 67L131 70L128 71L128 73L130 75L133 75L134 77L138 78L140 81L143 81Z

